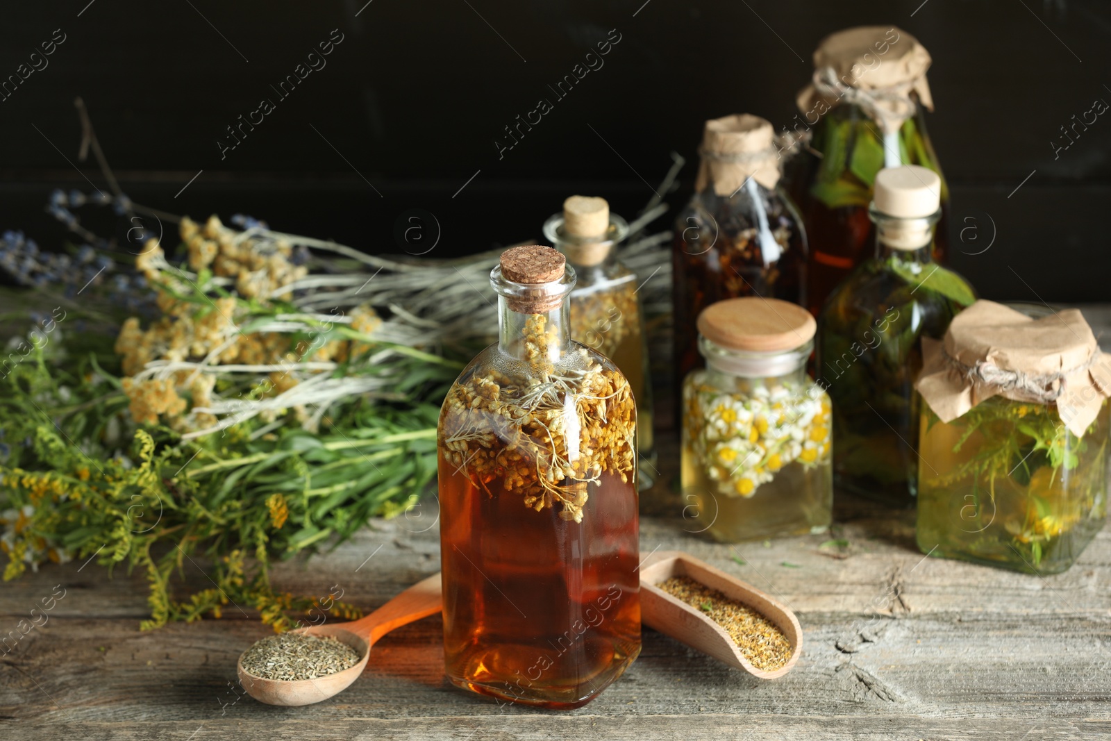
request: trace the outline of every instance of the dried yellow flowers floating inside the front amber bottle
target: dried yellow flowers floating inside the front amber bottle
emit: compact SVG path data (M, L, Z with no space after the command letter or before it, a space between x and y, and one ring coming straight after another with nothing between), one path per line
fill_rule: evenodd
M500 479L526 507L539 512L559 501L562 519L581 522L589 483L603 472L632 479L637 411L624 377L588 350L552 363L558 332L546 323L543 314L529 316L519 370L479 362L456 382L440 417L440 449L491 497Z

